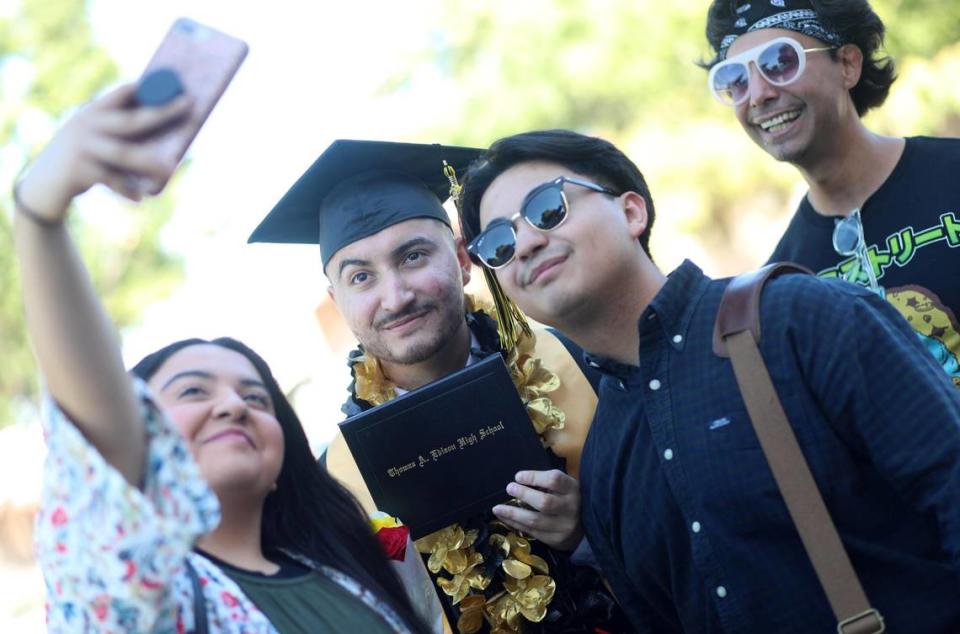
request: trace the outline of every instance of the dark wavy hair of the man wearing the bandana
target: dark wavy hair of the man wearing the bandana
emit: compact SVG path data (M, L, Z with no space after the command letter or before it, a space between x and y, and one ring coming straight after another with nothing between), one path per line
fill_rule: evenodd
M713 0L707 12L707 41L717 55L707 63L710 68L720 60L720 42L735 31L739 0ZM893 58L883 49L886 28L867 0L810 0L810 6L825 27L840 36L845 44L855 44L863 52L860 81L850 89L850 97L861 117L887 99L897 78ZM830 57L837 59L836 51Z

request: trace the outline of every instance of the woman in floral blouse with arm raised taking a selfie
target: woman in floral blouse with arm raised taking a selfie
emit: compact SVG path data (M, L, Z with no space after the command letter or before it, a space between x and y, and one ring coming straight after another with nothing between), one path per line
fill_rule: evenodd
M138 200L139 179L173 172L135 139L191 103L130 108L134 90L81 109L14 188L27 326L55 403L37 522L50 631L423 630L256 353L188 340L124 371L64 219L97 183Z

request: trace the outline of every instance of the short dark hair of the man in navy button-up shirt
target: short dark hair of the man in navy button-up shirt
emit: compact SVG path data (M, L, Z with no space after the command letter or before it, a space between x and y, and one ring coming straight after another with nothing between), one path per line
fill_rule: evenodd
M650 255L653 198L643 174L609 141L570 130L541 130L504 137L467 169L460 205L461 230L468 241L480 233L480 200L490 184L514 165L531 161L556 163L615 192L640 194L647 204L648 216L647 228L640 235L640 246Z

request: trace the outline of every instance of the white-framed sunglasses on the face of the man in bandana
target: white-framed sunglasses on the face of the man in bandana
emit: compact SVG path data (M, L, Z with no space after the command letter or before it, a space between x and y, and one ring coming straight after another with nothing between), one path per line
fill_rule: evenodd
M792 37L778 37L715 64L707 75L707 84L720 103L736 106L750 95L751 63L770 84L786 86L797 81L803 74L807 65L807 53L831 51L835 48L837 47L803 48L803 45Z

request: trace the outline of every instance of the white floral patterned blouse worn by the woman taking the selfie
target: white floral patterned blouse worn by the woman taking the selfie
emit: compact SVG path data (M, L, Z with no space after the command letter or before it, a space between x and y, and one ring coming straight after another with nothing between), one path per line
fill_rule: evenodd
M210 632L276 634L227 575L192 552L220 521L216 495L180 434L135 380L147 435L142 490L130 486L55 406L44 417L48 454L35 531L50 632L191 632L189 558L203 587ZM301 558L302 559L302 558ZM303 560L379 613L393 612L342 573Z

